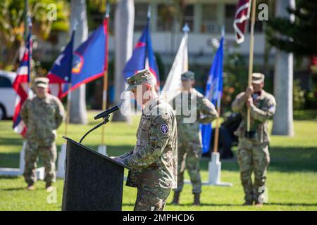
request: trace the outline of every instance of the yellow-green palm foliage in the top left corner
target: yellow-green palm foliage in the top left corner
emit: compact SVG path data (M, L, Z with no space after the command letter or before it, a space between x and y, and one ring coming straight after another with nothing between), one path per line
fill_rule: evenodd
M56 6L56 20L48 20L49 4ZM20 47L23 46L24 1L3 0L0 1L0 63L6 70L13 70L18 60ZM69 4L67 1L32 0L29 3L28 13L32 18L32 34L37 39L47 39L52 30L68 30Z

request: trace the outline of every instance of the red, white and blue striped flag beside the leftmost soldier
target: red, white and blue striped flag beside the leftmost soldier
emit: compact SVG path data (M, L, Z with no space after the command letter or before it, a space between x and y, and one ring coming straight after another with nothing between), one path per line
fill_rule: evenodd
M13 89L17 93L15 99L15 110L13 115L13 130L17 134L25 136L27 127L20 116L20 110L23 103L27 99L30 82L30 62L32 60L32 23L29 18L29 34L27 35L27 40L25 41L25 51L23 53L23 58L20 62L18 70L16 72L16 77L13 82Z

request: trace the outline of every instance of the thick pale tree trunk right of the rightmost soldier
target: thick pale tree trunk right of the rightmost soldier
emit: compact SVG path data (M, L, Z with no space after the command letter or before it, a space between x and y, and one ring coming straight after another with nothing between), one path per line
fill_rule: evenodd
M276 1L275 15L290 18L287 7L295 7L295 0ZM272 134L294 136L293 124L293 54L277 49L275 58L274 95L277 108L273 117Z

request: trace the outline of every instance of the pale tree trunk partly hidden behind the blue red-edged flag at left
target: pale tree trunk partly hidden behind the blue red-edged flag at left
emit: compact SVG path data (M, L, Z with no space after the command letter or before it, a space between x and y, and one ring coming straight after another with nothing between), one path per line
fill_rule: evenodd
M77 20L76 33L74 37L74 50L86 41L88 37L87 25L87 9L85 0L70 1L70 23L71 27ZM70 29L71 30L71 29ZM87 124L87 109L86 109L86 85L71 91L70 98L70 123L72 124Z

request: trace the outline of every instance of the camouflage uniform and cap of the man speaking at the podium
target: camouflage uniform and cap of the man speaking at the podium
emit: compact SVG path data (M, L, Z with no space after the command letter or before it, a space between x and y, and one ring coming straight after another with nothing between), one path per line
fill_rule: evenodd
M131 90L151 79L147 70L128 79ZM173 109L155 98L147 102L137 129L137 143L121 155L129 171L127 186L137 188L134 210L163 210L177 179L177 127Z

